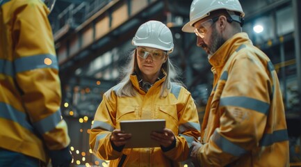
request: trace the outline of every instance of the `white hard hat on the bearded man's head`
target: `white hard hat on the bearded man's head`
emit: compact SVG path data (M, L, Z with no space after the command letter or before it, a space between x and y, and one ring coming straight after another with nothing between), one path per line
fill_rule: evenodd
M193 0L190 6L190 21L183 26L182 31L195 33L193 24L219 9L241 13L240 17L245 16L238 0Z

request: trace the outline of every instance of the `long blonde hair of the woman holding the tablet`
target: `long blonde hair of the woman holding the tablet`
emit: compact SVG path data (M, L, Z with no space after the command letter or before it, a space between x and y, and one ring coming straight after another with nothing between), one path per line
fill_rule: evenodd
M118 97L133 97L136 95L137 90L133 88L133 84L131 83L130 76L131 74L140 74L140 69L137 63L137 56L136 56L136 49L131 51L129 54L129 63L124 68L123 71L123 79L120 81L119 84L108 90L105 95L108 98L111 98L111 93L114 90L115 94ZM177 69L174 65L172 65L169 56L167 56L167 60L163 63L162 67L163 70L166 72L166 79L163 82L163 86L161 87L160 97L166 97L168 93L170 93L171 82L174 84L178 84L184 86L184 84L177 79L179 75L177 74ZM167 90L167 92L166 92Z

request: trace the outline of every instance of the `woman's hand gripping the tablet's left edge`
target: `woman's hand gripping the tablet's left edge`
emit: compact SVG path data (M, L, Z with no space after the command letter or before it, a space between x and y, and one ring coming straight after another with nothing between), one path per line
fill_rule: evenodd
M110 140L111 142L113 142L114 145L119 147L121 145L125 145L130 138L131 138L131 134L125 134L120 129L115 129L111 134Z

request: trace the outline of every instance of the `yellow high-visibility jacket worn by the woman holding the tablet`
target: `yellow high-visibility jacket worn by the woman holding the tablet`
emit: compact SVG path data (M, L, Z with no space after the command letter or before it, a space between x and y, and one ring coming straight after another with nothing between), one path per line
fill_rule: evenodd
M147 93L140 88L136 75L131 82L137 90L134 97L117 97L115 86L111 99L104 95L95 113L90 130L90 148L99 159L111 160L110 166L179 166L189 155L192 141L200 137L200 122L195 102L188 90L177 84L167 97L160 97L165 77L155 82ZM110 135L113 129L120 129L121 120L166 120L166 128L174 132L176 146L163 152L161 148L124 148L114 150Z

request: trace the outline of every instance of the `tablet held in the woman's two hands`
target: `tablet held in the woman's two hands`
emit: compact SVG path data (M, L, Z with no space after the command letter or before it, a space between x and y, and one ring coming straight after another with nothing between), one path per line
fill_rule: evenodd
M156 148L160 145L150 134L152 131L161 132L165 128L165 120L122 120L120 129L131 134L131 140L124 148Z

